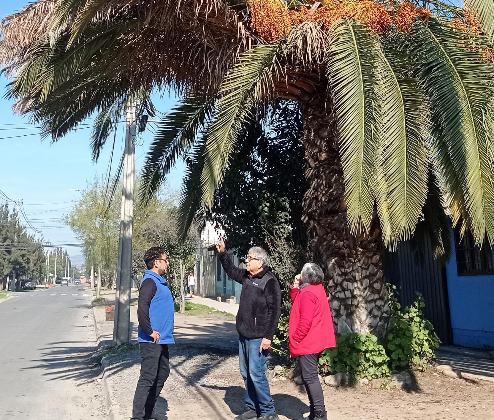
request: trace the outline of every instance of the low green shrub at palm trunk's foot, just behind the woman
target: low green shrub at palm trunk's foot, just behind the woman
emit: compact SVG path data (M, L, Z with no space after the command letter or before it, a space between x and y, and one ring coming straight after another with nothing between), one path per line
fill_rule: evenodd
M389 358L384 347L372 334L351 332L336 338L336 347L326 349L319 359L324 374L349 372L363 378L378 378L389 374Z

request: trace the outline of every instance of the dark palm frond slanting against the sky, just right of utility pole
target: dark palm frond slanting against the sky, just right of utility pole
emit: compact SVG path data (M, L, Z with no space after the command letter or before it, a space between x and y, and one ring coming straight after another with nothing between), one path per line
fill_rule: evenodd
M206 129L212 110L212 101L191 93L165 115L144 163L140 201L147 202L165 182L177 160L185 158L198 134Z

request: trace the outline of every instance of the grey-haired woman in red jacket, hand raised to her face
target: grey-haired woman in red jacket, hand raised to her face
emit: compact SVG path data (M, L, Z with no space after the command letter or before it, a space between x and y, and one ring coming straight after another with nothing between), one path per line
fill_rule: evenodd
M290 288L288 338L292 357L300 356L302 380L310 401L310 420L327 420L323 388L319 382L320 353L335 347L333 320L321 267L307 263Z

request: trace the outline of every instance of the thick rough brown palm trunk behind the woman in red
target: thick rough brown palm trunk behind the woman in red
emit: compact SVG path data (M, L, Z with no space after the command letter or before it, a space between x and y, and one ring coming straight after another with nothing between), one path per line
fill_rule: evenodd
M308 242L325 271L335 330L382 335L389 319L378 223L353 235L346 220L343 169L329 99L302 103L309 189L304 197Z

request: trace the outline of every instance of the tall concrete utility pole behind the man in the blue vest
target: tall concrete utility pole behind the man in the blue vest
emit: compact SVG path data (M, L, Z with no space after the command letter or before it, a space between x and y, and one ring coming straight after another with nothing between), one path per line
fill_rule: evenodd
M137 103L127 107L124 153L124 186L120 213L119 258L115 292L113 343L130 341L130 283L132 279L132 218L134 216L134 163L137 130Z

